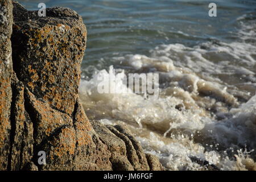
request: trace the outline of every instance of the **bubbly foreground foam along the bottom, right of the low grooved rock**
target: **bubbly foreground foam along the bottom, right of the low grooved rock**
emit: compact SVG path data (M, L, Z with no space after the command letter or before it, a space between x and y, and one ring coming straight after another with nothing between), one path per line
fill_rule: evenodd
M154 133L148 138L137 137L145 151L159 157L160 162L168 170L205 170L204 166L193 162L191 157L217 166L221 170L256 169L256 163L250 158L250 152L237 151L236 160L213 150L205 151L199 143L186 137L176 137L172 142L163 142Z

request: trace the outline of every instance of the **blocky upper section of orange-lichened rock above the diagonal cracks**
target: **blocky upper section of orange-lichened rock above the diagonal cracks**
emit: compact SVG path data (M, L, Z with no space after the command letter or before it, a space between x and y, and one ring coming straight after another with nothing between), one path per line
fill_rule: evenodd
M56 7L46 13L39 17L38 11L27 11L14 2L14 70L37 98L71 116L78 97L86 28L71 9Z

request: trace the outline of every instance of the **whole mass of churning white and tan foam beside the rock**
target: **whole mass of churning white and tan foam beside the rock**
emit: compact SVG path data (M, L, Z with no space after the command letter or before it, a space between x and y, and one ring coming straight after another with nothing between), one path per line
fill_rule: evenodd
M113 57L116 75L111 66L81 81L86 113L104 124L133 126L144 150L166 169L204 170L195 157L224 170L256 170L256 45L245 42L255 31L245 24L238 34L240 42L168 44L147 56ZM127 88L127 69L159 73L159 98L148 100ZM111 76L126 94L98 93L99 78Z

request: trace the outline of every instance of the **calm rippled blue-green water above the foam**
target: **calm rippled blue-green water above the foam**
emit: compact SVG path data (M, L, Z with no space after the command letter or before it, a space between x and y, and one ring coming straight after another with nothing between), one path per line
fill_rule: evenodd
M170 0L86 0L86 1L19 1L36 10L38 3L47 7L64 6L79 13L88 29L85 64L105 67L113 53L147 54L160 44L181 43L194 46L210 39L233 41L236 19L253 14L256 2L237 1L170 1ZM217 17L208 16L210 2L217 4ZM180 34L179 31L184 34ZM108 63L101 63L104 57Z

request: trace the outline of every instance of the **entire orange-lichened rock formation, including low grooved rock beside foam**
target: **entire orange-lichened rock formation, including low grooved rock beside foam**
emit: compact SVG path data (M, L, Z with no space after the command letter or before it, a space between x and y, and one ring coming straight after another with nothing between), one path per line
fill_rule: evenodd
M0 169L162 169L126 127L86 117L78 96L86 47L81 16L55 7L39 17L17 2L0 2Z

